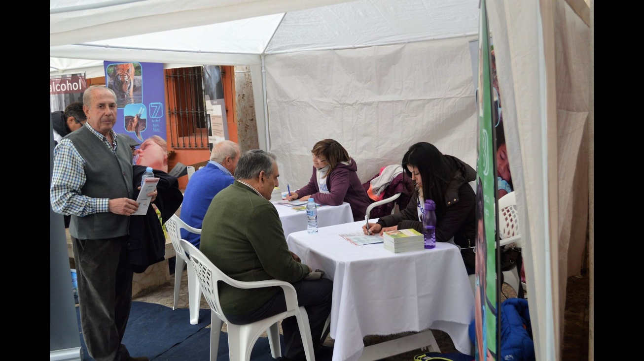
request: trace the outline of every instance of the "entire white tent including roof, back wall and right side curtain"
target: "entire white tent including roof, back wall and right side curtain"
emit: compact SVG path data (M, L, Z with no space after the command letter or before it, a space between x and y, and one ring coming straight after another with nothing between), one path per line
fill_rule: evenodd
M560 259L581 259L568 250L585 241L585 228L576 232L571 215L587 214L573 199L587 190L587 180L580 187L578 178L588 169L580 161L587 143L580 134L589 113L583 88L592 74L583 53L589 30L563 0L488 3L509 161L526 214L521 229L537 358L555 360L565 280L578 272ZM421 141L475 165L469 41L478 37L478 4L50 0L50 74L103 76L102 60L249 65L260 147L278 155L280 182L291 187L308 181L310 149L324 138L346 147L362 180L399 164ZM557 66L555 50L565 55ZM576 97L560 97L560 89Z

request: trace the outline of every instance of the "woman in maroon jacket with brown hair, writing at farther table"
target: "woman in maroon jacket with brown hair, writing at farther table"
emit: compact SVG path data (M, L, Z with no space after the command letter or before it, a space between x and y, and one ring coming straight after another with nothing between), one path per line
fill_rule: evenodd
M371 203L355 171L355 160L346 149L332 139L320 140L311 150L313 175L304 187L287 196L307 200L312 197L323 205L351 205L354 221L365 219L366 207Z

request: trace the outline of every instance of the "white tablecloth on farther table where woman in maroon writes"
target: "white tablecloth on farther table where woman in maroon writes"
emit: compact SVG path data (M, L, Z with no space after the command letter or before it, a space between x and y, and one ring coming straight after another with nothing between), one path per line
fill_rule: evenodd
M284 237L289 237L292 232L307 230L307 211L292 210L290 207L278 204L279 201L271 201L278 210L279 219L284 228ZM339 225L341 223L353 222L354 216L351 213L349 203L342 203L338 206L325 205L317 208L317 227Z

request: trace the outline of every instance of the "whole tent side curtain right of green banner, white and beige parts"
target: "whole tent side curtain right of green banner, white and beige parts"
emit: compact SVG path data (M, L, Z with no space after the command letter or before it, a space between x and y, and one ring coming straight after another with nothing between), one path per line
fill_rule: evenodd
M558 360L567 275L579 272L586 239L589 28L563 0L491 0L488 11L509 161L523 191L517 203L527 215L520 227L536 359Z

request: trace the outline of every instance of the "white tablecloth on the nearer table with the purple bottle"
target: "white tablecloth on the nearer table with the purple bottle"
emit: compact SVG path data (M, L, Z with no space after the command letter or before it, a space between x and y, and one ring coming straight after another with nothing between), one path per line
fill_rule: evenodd
M334 280L330 335L333 361L354 361L366 335L440 329L455 347L471 353L469 323L474 296L459 248L393 254L383 243L355 246L338 234L361 232L362 222L294 232L289 249Z

